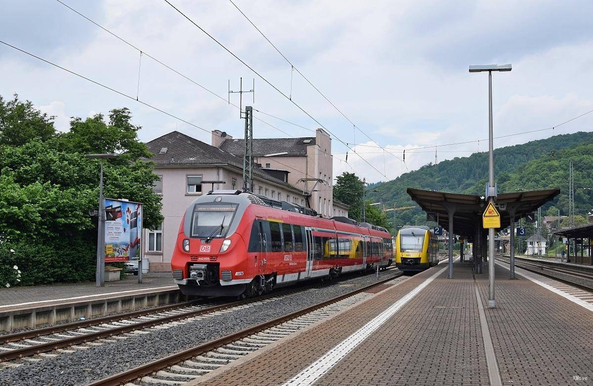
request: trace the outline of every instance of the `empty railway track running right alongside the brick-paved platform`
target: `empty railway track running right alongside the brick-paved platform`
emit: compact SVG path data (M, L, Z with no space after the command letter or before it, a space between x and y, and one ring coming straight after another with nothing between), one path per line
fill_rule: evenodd
M88 386L183 385L371 297L372 294L366 291L401 275L399 273L390 276L294 313L101 379Z

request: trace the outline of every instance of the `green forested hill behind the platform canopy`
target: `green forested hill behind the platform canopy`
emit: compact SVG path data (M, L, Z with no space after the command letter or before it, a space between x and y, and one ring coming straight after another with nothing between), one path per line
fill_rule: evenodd
M562 188L553 204L559 201L561 211L568 210L568 162L575 165L575 186L593 188L593 133L563 134L543 140L530 141L515 146L494 150L495 176L499 193L516 189ZM488 153L474 153L469 157L455 157L437 165L430 163L422 168L404 173L398 178L372 186L381 191L382 199L389 207L415 205L406 193L409 187L434 189L436 191L483 194L488 178ZM587 186L585 186L588 184ZM582 186L581 186L582 185ZM575 191L575 207L585 213L591 206L587 191ZM593 194L593 193L591 193ZM378 200L379 193L367 197ZM546 206L546 209L551 205ZM419 209L396 212L398 226L425 222L425 214Z

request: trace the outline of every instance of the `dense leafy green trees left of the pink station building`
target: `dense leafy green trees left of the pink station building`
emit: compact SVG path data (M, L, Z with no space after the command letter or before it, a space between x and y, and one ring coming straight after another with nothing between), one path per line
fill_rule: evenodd
M105 197L142 202L144 226L161 223L161 197L152 192L158 176L127 108L111 110L107 122L100 114L72 118L63 134L17 96L0 98L0 117L0 285L13 265L22 284L93 278L97 218L88 212L97 209L100 164L85 153L120 153L104 161Z

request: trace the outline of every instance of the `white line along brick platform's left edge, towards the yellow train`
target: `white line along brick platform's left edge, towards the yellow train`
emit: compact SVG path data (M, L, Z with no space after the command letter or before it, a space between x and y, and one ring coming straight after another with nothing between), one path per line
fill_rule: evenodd
M390 319L391 316L397 313L397 311L399 311L404 304L412 300L412 298L414 298L426 286L431 284L431 282L436 279L437 276L441 275L446 269L448 269L448 266L439 269L438 272L423 281L403 298L396 301L396 303L392 304L389 308L387 308L387 310L378 314L378 316L374 317L356 332L350 334L350 336L346 337L346 339L342 340L342 342L338 343L336 346L334 346L334 348L324 353L324 355L317 359L317 361L313 362L307 368L302 369L299 374L286 381L282 386L305 386L316 382L317 379L323 377L323 375L329 371L329 369L335 366L337 362L342 360L350 351L355 349L356 346L361 344L367 337L375 332L375 330L381 327L382 324L384 324L388 319Z

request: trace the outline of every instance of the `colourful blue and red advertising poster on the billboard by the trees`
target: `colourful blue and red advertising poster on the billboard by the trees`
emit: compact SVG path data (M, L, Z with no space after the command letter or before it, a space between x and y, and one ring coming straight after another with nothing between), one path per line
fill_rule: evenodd
M142 204L105 199L105 261L139 260Z

